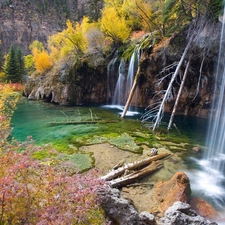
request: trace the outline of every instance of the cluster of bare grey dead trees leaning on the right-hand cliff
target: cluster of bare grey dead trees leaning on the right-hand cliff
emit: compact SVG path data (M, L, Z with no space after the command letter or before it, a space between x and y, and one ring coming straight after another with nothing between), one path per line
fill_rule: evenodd
M160 125L161 120L164 115L164 108L166 102L170 100L174 100L174 96L176 96L173 111L171 113L170 121L168 124L167 129L171 129L172 123L173 123L173 118L176 113L176 109L178 106L178 102L181 96L181 92L184 88L184 82L185 79L190 72L189 68L190 67L190 62L191 60L195 60L197 57L202 58L202 62L200 63L200 69L199 69L199 78L197 82L197 87L196 87L196 96L199 93L200 89L200 83L202 82L202 70L203 70L203 64L206 60L207 57L207 52L210 51L210 46L213 46L212 43L216 41L216 35L215 35L215 26L210 24L208 22L209 20L207 18L202 18L202 19L196 19L193 21L188 30L188 34L186 39L189 40L185 50L178 62L178 64L174 63L170 66L167 66L168 68L172 68L176 66L176 69L174 72L170 72L169 70L166 71L168 72L163 78L160 78L158 80L158 85L161 84L165 79L170 78L170 81L168 83L168 86L165 90L160 90L156 93L156 96L160 96L160 98L155 101L154 104L150 105L147 107L147 111L142 115L141 120L142 123L146 123L148 121L151 121L150 125L148 125L149 128L151 128L153 131ZM207 54L206 54L207 53ZM188 62L188 63L186 63ZM186 64L185 64L186 63ZM167 67L164 68L163 70L167 70ZM181 67L186 67L185 72L183 74L183 78L180 78L181 84L178 93L175 93L175 81L177 81L177 77L179 74L182 74L182 69ZM203 82L202 82L203 83ZM194 101L193 99L193 101Z

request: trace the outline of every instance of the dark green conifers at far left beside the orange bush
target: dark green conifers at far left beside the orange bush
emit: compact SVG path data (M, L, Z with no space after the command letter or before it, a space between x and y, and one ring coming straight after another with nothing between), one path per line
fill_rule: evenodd
M22 52L20 48L15 49L13 46L11 46L5 64L6 81L20 83L22 82L23 73L24 61Z

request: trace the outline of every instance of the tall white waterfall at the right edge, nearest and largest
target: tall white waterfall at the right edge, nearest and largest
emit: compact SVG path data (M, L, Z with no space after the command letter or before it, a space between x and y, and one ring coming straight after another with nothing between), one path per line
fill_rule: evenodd
M223 20L224 21L224 20ZM215 74L214 100L210 116L207 151L204 159L216 177L215 184L225 182L225 24L222 23L220 47ZM211 181L209 181L211 182ZM225 191L224 191L225 192ZM223 193L225 194L225 193Z

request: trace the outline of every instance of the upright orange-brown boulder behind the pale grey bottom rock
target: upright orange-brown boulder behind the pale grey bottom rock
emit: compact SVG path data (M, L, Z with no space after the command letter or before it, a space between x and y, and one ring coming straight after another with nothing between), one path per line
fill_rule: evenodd
M159 204L159 210L163 213L174 202L188 202L190 194L190 180L183 172L177 172L167 182L157 183L155 188L155 200Z

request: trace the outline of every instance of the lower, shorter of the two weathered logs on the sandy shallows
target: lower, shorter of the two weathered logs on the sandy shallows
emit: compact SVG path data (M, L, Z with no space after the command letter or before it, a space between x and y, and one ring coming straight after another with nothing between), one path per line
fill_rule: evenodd
M149 173L153 173L153 172L161 169L162 167L163 167L162 162L160 162L160 161L152 162L149 166L144 167L141 170L138 170L138 171L132 172L128 175L122 176L120 178L111 180L109 182L109 184L110 184L111 187L114 187L114 188L115 187L122 187L126 184L132 183L133 181L135 181L138 178L146 176Z

